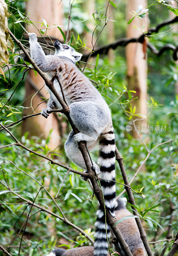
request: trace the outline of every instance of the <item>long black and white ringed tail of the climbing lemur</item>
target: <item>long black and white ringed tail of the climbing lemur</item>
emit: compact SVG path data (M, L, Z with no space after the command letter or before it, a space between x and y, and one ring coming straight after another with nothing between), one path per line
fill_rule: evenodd
M100 165L100 178L101 188L104 194L105 206L111 212L111 215L115 217L114 209L116 204L116 188L115 188L115 142L113 128L107 128L105 133L100 136L99 140L99 157L98 164ZM109 181L111 180L111 181ZM95 244L94 244L94 256L107 256L108 255L108 243L106 239L111 236L110 227L106 224L105 216L101 207L97 210L97 220L95 222Z

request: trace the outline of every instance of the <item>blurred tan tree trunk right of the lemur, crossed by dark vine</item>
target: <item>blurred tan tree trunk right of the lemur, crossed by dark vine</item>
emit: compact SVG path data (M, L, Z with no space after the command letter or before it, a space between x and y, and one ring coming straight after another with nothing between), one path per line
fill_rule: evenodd
M129 12L136 11L138 6L142 4L143 8L146 8L147 1L146 0L129 0L127 4L127 20L129 20L132 16ZM133 28L143 28L144 31L148 30L148 15L143 18L143 20L139 18L135 18L129 25L127 29L127 37L139 37L142 34L142 31ZM144 44L145 46L145 44ZM128 67L128 89L136 91L136 96L138 96L137 100L134 100L132 103L132 107L136 107L136 112L147 116L147 58L146 54L143 52L143 44L140 43L130 43L126 47L126 59L127 59L127 67ZM135 96L135 94L134 94ZM142 129L142 125L145 126L146 119L139 120L136 122L136 125L140 126L140 131ZM137 137L134 129L132 129L132 134L134 137Z

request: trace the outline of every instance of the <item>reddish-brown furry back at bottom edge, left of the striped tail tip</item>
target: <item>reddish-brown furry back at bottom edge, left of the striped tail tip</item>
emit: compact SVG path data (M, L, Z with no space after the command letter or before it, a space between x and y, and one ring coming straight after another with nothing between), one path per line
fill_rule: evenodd
M67 250L63 256L93 256L94 247L83 246Z

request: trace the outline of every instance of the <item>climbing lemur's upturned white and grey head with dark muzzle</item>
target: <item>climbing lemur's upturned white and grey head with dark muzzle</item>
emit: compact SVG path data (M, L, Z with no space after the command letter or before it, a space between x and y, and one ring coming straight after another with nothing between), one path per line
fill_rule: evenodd
M76 52L74 48L72 48L68 44L61 44L58 40L54 43L55 48L55 55L59 57L67 57L70 60L72 60L74 63L79 61L81 59L82 54L79 52Z

